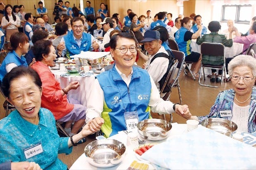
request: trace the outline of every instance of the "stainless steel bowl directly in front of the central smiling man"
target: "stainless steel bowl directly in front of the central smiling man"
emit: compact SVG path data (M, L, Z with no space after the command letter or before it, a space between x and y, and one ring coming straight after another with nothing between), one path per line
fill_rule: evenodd
M164 140L172 128L171 122L162 119L145 119L137 124L138 132L146 140Z

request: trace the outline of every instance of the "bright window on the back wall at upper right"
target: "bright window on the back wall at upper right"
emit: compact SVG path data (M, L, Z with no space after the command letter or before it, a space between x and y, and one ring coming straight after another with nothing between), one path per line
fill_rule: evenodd
M232 19L235 23L249 24L251 12L251 5L223 5L221 21Z

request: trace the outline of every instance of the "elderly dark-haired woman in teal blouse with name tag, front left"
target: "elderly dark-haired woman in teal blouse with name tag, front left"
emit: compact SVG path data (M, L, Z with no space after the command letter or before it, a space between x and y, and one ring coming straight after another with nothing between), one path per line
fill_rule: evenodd
M42 82L32 68L13 68L2 89L17 110L0 121L0 163L28 161L43 170L66 170L58 154L70 154L72 145L93 133L90 123L73 137L59 137L52 112L40 107Z

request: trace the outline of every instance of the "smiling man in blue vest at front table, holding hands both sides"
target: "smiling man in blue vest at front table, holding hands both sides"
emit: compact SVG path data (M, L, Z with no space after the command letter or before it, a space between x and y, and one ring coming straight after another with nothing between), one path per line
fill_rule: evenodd
M134 67L137 43L129 33L110 39L113 68L96 76L87 103L86 122L90 129L102 130L105 137L121 130L137 131L137 123L151 119L150 110L159 114L176 112L191 117L187 105L173 104L160 98L154 80L146 70Z

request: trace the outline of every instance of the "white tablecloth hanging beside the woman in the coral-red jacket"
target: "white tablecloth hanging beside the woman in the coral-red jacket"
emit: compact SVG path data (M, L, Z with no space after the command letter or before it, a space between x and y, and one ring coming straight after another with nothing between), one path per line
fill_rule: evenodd
M86 106L86 103L89 99L92 83L95 80L95 75L92 75L90 77L80 77L80 76L74 76L69 78L61 77L60 75L65 74L67 72L60 71L60 70L51 70L52 73L55 75L55 78L59 81L60 87L65 88L73 81L78 81L80 86L76 90L71 90L68 93L68 97L71 97L73 99L78 100L81 102L82 105Z

